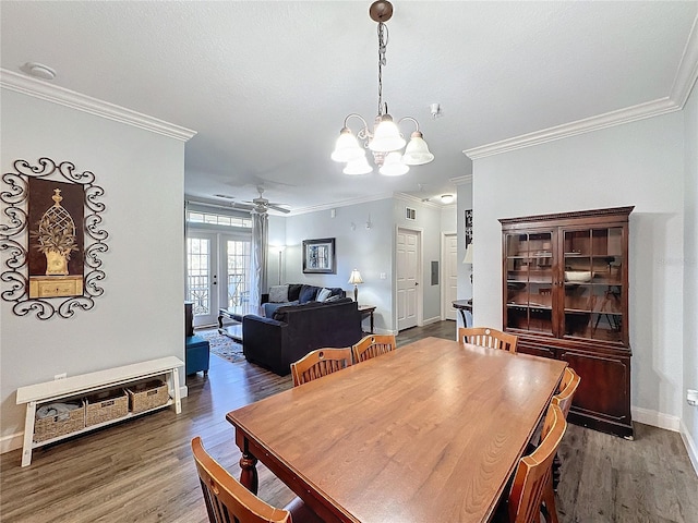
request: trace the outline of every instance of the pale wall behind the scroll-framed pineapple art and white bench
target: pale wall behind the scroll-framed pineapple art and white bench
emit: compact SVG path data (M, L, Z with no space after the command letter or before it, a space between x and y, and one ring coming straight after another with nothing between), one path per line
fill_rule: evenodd
M15 159L43 156L93 171L109 233L105 294L92 311L39 320L0 301L0 442L8 450L24 429L19 387L60 373L184 358L184 143L4 88L1 131L2 172Z

